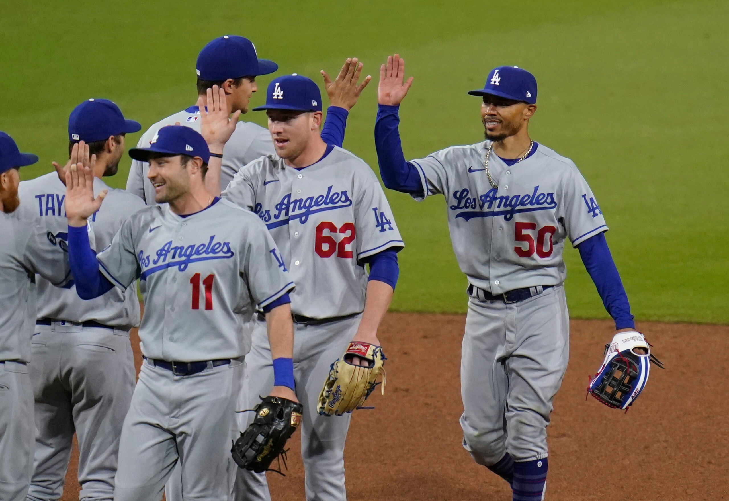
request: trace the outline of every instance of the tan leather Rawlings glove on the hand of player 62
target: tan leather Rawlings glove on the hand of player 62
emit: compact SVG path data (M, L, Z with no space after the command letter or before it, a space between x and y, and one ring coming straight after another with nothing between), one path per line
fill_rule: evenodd
M367 365L354 365L353 357L370 362ZM382 366L386 360L380 346L360 341L349 343L344 355L332 364L329 377L319 394L317 410L322 416L341 416L343 413L361 408L379 384L377 377L382 371L382 395L385 395L385 371Z

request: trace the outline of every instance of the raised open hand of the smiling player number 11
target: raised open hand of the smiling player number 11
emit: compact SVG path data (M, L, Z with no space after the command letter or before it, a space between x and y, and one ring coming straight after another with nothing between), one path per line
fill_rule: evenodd
M88 150L87 150L88 151ZM91 217L101 207L106 190L93 196L93 168L96 164L96 155L92 155L90 165L84 166L82 162L71 163L66 171L66 217L70 226L85 226L87 217Z

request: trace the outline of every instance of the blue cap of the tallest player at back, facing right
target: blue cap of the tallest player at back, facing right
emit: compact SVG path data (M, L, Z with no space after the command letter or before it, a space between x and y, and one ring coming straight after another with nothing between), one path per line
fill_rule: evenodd
M216 82L229 78L257 77L278 69L278 64L259 59L253 42L243 36L225 35L208 42L195 64L198 77Z

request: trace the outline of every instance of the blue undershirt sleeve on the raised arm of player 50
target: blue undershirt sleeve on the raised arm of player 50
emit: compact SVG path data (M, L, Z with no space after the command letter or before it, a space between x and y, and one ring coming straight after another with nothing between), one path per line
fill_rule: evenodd
M400 123L397 111L399 106L378 104L375 120L375 149L380 165L382 182L390 190L402 193L423 195L423 184L418 170L412 163L405 161L397 127Z

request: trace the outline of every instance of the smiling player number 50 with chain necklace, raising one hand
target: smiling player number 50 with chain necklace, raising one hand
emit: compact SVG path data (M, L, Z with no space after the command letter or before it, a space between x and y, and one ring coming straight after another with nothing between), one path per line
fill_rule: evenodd
M412 77L396 54L380 73L375 145L386 187L416 200L443 194L448 228L469 281L461 359L464 447L512 486L543 499L547 424L567 367L569 316L562 282L565 238L580 250L617 330L634 330L605 241L605 220L572 160L529 137L537 81L491 70L481 96L486 141L406 162L398 106Z

